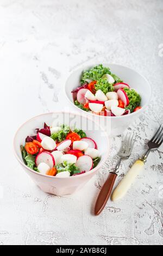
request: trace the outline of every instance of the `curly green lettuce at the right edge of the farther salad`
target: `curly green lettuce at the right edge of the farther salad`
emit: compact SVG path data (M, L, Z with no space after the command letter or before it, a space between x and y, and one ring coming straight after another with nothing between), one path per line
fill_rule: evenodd
M127 93L129 99L129 105L126 109L130 109L131 112L134 111L135 107L140 106L141 96L134 89L123 88L124 92Z

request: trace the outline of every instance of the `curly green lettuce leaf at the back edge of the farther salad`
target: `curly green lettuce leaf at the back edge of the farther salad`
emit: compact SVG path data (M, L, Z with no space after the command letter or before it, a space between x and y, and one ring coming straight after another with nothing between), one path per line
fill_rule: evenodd
M97 81L101 78L104 74L111 74L110 69L104 67L102 64L98 66L94 66L90 70L83 71L82 77L80 79L80 83L84 84L87 80L95 80Z

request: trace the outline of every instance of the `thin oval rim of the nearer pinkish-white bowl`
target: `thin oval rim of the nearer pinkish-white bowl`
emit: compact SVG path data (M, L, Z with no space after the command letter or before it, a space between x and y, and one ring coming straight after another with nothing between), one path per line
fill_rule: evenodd
M66 114L74 114L74 115L78 115L80 117L84 117L90 121L92 121L93 123L95 123L99 129L101 131L103 131L104 133L104 138L106 139L107 141L107 144L108 144L108 148L106 150L106 153L105 153L105 156L104 156L104 159L97 164L97 166L91 170L89 170L88 172L86 173L83 173L81 175L74 175L74 176L69 176L69 177L66 177L66 178L61 178L61 177L56 177L56 176L51 176L51 175L46 175L46 174L42 174L42 173L39 173L39 172L36 172L35 170L33 169L30 169L28 166L26 166L26 164L24 164L23 160L20 160L20 158L18 157L17 153L16 153L16 136L17 136L17 133L21 130L21 128L26 125L26 123L28 123L29 121L35 119L35 118L38 118L38 117L41 117L42 115L47 115L47 114L62 114L62 113L66 113ZM75 112L70 112L70 111L53 111L53 112L46 112L46 113L43 113L43 114L39 114L39 115L35 115L33 118L30 118L28 119L26 122L24 122L20 127L18 127L17 131L15 132L15 135L14 135L14 139L13 139L13 149L14 149L14 155L17 159L17 161L24 167L26 168L27 170L29 170L30 172L36 174L36 175L41 175L41 176L44 176L44 177L47 177L47 178L50 178L50 179L77 179L79 178L80 176L86 176L86 175L89 175L93 172L96 172L97 169L101 168L104 164L104 162L106 161L106 159L108 158L109 156L109 136L108 136L108 133L103 129L103 127L101 125L99 125L95 120L92 120L90 117L86 117L85 115L83 114L80 114L80 113L75 113Z

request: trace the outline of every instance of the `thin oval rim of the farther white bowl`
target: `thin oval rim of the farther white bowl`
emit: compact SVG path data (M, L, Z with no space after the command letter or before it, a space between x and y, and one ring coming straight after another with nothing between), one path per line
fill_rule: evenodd
M96 66L96 65L99 65L99 64L101 64L101 63L96 63L96 64L90 64L90 65L81 65L80 66L80 68L77 68L77 69L75 69L75 70L72 70L71 72L70 72L70 74L69 74L69 76L67 77L67 79L66 79L66 82L65 82L65 86L64 86L64 93L65 93L65 95L66 95L66 98L68 99L68 101L71 103L71 105L73 105L75 108L77 108L77 109L79 109L80 111L82 111L82 113L85 113L86 111L84 111L83 109L81 109L81 108L79 108L79 107L77 107L76 105L74 105L74 103L69 99L69 97L68 97L68 95L67 95L67 92L66 92L66 88L67 88L67 80L68 80L68 78L74 73L74 72L76 72L76 71L78 71L79 69L82 69L83 68L83 70L84 70L84 67L86 67L86 66ZM115 66L122 66L123 68L127 68L127 69L129 69L129 70L132 70L132 71L134 71L134 72L136 72L138 75L140 75L146 82L147 82L147 84L148 84L148 86L149 86L149 88L150 88L150 95L149 95L149 99L148 99L148 101L146 102L146 104L145 105L143 105L138 111L135 111L135 112L133 112L133 113L130 113L129 115L120 115L120 116L115 116L115 117L109 117L109 116L105 116L105 115L96 115L96 114L92 114L92 113L90 113L90 112L86 112L85 114L88 114L88 115L90 115L90 116L92 116L92 117L99 117L99 118L113 118L113 119L119 119L119 118L125 118L125 117L129 117L130 115L136 115L137 114L137 112L138 113L141 113L148 105L149 105L149 102L151 101L151 97L152 97L152 87L151 87L151 84L148 82L148 80L147 80L147 78L145 77L145 76L143 76L140 72L138 72L138 71L136 71L136 70L134 70L134 69L131 69L131 68L129 68L128 66L125 66L125 65L120 65L120 64L116 64L116 63L108 63L108 64L106 64L106 63L102 63L103 65L115 65Z

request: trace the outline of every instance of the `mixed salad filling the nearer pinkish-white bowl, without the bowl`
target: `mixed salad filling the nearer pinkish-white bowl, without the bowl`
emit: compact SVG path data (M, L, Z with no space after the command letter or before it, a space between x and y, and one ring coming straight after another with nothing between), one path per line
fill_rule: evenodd
M82 129L44 123L21 145L23 162L35 172L66 178L95 168L101 160L96 142Z

